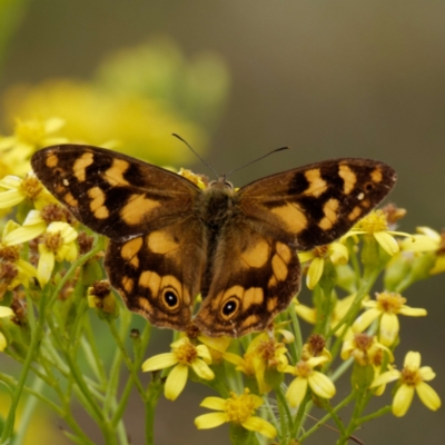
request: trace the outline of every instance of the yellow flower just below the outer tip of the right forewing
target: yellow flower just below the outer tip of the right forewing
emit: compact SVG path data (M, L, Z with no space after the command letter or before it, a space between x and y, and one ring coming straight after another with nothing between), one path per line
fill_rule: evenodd
M382 248L390 256L398 253L399 247L393 235L398 235L403 237L412 237L412 235L403 233L388 230L388 225L386 221L385 212L382 210L372 211L365 218L360 219L346 235L343 239L353 235L365 235L374 237Z

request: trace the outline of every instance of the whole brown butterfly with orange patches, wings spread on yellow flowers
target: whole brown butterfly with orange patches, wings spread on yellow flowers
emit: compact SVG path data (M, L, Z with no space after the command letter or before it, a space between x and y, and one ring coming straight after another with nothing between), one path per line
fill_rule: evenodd
M32 168L85 226L110 238L105 267L129 309L209 336L264 330L300 287L297 250L344 235L389 192L387 165L332 159L234 189L120 152L60 145ZM194 316L197 295L202 303Z

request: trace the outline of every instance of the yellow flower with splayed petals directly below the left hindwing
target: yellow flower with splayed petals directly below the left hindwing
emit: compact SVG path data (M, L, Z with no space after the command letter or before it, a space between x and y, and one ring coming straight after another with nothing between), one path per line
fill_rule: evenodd
M186 386L189 367L205 380L211 380L215 374L208 366L211 358L206 345L195 346L188 337L182 337L170 346L171 353L148 358L142 364L142 370L158 370L175 366L167 376L164 393L166 398L175 400Z

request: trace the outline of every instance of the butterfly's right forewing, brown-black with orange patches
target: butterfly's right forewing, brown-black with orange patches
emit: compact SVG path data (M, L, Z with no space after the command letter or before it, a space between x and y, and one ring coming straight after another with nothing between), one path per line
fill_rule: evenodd
M267 234L307 250L344 235L395 181L386 164L333 159L251 182L239 190L239 205Z

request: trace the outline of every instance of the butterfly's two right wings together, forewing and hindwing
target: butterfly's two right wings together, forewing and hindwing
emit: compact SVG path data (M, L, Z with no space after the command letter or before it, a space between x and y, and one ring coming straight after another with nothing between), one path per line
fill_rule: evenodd
M265 329L299 289L296 250L332 243L393 188L395 171L337 159L241 188L217 246L214 276L195 323L209 335Z

